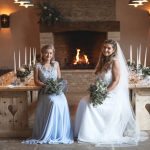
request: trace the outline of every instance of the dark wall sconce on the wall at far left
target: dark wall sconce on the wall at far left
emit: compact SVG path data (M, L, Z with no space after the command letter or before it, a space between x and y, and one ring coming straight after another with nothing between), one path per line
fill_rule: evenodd
M6 14L0 15L1 28L9 28L9 16Z

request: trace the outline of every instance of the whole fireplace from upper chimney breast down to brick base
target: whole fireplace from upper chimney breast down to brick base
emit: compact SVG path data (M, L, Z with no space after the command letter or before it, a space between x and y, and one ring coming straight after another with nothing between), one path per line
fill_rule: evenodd
M74 120L79 100L95 80L94 68L102 42L120 40L120 22L116 21L115 0L53 0L51 3L59 8L66 21L40 25L40 45L55 46L62 77L68 81L66 96ZM80 61L74 64L77 54ZM87 64L81 61L84 55L88 58Z

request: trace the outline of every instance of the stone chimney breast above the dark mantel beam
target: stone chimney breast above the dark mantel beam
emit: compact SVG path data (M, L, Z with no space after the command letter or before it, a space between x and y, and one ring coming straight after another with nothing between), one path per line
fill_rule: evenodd
M49 0L69 21L116 20L116 0Z

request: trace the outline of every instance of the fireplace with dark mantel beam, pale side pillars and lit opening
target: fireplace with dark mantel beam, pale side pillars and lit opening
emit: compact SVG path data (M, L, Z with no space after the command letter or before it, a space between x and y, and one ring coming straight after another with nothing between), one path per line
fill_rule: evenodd
M40 40L41 46L54 44L62 69L94 69L102 42L108 38L118 40L119 30L118 21L65 22L41 26Z

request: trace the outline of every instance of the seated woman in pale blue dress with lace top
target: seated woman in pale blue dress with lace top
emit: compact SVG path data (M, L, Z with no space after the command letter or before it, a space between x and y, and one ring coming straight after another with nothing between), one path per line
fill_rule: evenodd
M43 88L39 92L32 137L23 141L26 144L71 144L73 133L67 99L60 94L45 94L47 79L61 78L58 62L54 61L53 45L42 48L42 63L34 71L35 83Z

